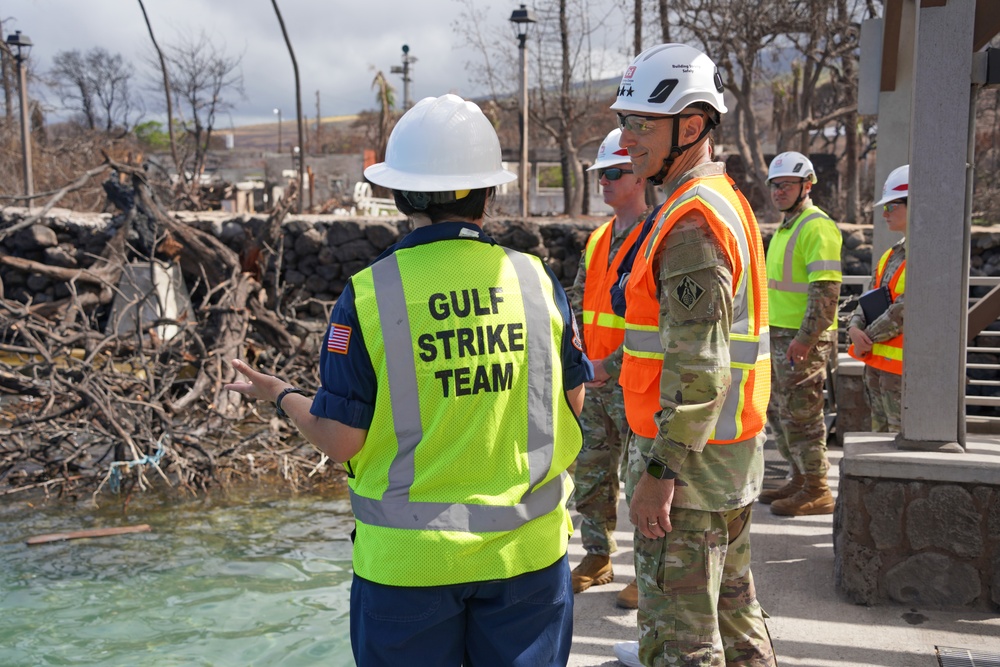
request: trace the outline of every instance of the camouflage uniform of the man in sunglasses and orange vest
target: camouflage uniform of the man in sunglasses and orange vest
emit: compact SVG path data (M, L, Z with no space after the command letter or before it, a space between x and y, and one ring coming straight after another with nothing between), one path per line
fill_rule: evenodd
M643 213L625 230L613 232L608 261L614 260L629 232L646 218ZM624 251L627 251L625 248ZM587 267L580 262L573 286L567 290L573 312L583 312L583 292L587 284ZM582 330L582 325L581 325ZM586 340L584 340L586 346ZM610 367L610 368L609 368ZM609 361L606 370L618 371ZM573 502L582 517L580 539L587 553L608 556L617 551L614 532L618 524L619 466L627 423L622 388L610 380L601 387L588 388L580 413L583 447L576 458Z

